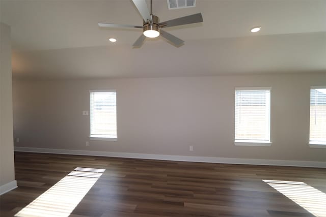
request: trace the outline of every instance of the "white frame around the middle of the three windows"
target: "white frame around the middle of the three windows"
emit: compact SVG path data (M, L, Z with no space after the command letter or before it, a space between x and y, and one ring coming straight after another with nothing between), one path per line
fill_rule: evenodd
M263 140L240 140L240 139L236 139L235 138L235 112L236 112L236 91L237 90L269 90L269 99L268 99L268 129L267 129L267 133L268 133L268 141L263 141ZM271 144L273 144L273 142L271 142L270 139L270 129L271 129L271 121L270 121L270 110L271 110L271 103L270 100L271 99L271 86L265 86L265 87L235 87L234 89L234 137L233 137L233 141L234 141L234 145L236 146L264 146L264 147L269 147L271 146Z

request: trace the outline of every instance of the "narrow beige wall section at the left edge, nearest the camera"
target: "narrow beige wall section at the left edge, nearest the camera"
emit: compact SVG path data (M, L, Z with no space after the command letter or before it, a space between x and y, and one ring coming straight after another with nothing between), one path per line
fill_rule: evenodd
M14 184L10 27L0 22L0 194ZM2 188L3 187L3 188Z

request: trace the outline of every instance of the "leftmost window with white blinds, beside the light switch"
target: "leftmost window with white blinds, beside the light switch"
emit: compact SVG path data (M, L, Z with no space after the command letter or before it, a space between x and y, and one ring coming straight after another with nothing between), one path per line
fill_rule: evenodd
M93 140L117 140L116 90L90 91L91 136Z

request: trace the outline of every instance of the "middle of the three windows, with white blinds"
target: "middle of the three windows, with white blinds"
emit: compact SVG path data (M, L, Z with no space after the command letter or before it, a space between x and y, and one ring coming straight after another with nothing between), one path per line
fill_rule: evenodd
M270 87L235 89L235 145L270 146Z

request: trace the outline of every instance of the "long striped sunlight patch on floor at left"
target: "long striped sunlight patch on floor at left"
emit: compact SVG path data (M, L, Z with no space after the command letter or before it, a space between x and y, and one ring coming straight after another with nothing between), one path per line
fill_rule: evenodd
M77 167L15 216L69 216L104 171L105 169Z

